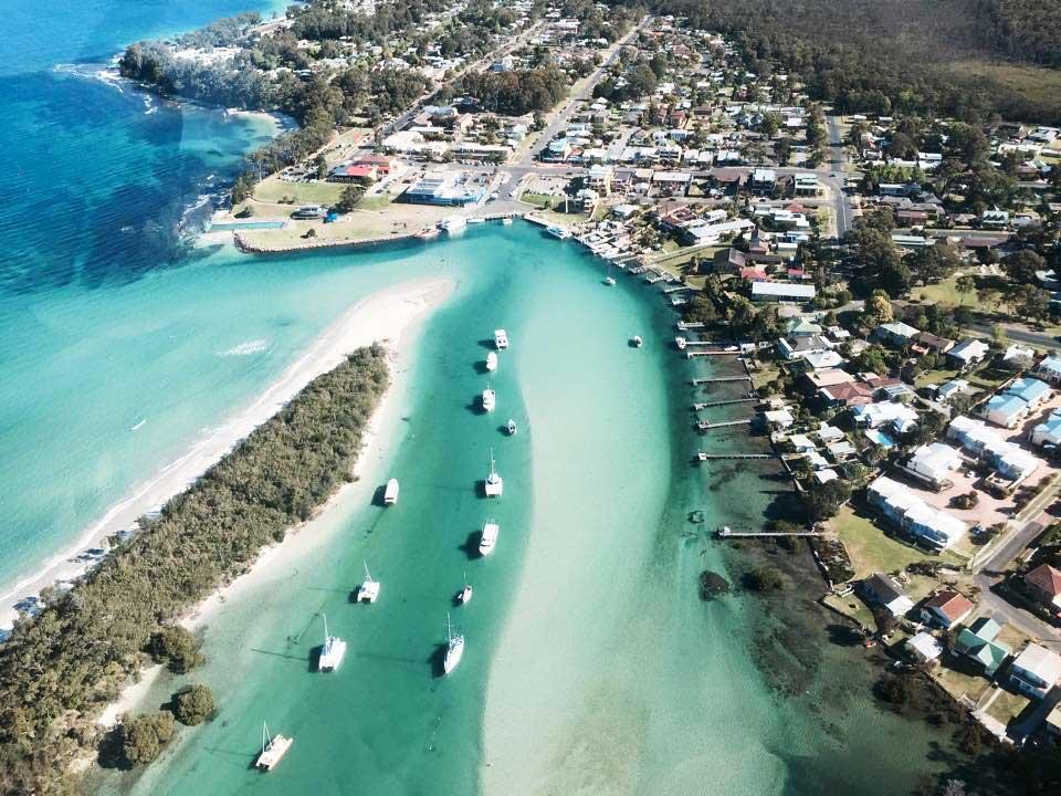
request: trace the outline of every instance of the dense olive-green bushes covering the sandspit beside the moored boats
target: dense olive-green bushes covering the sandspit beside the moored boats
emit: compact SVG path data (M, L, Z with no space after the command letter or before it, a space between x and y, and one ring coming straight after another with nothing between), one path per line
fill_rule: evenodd
M349 355L158 517L141 520L84 580L15 625L0 646L0 793L59 787L71 760L98 741L92 718L148 656L174 671L200 662L195 638L174 621L353 478L388 378L380 346ZM188 694L178 695L179 715L209 712L202 691ZM150 762L172 732L170 711L127 721L125 758Z

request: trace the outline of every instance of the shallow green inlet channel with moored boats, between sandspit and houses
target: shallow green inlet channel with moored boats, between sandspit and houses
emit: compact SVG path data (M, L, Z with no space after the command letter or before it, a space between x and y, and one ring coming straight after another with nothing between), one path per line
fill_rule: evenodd
M182 731L143 775L104 775L105 792L900 794L929 765L924 727L876 709L857 656L823 632L812 653L777 635L805 594L698 600L703 567L737 579L744 566L706 530L760 519L778 483L691 464L702 442L689 366L663 345L673 316L654 290L605 287L599 263L524 224L252 262L261 275L317 269L307 283L333 282L314 295L437 273L459 286L424 325L382 458L304 531L317 546L230 598L204 630L204 670L165 675L151 695L204 681L217 720ZM476 364L498 325L513 348L492 378L498 409L483 416ZM634 333L641 350L627 345ZM501 431L510 416L515 438ZM491 447L505 476L496 504L476 493ZM390 475L399 505L370 505ZM694 510L706 523L689 522ZM501 538L479 559L487 517ZM382 583L370 607L348 601L365 559ZM455 608L465 572L475 597ZM800 587L820 589L812 574ZM468 650L439 678L448 610ZM350 643L330 675L312 669L321 612ZM267 776L249 768L263 720L295 736Z

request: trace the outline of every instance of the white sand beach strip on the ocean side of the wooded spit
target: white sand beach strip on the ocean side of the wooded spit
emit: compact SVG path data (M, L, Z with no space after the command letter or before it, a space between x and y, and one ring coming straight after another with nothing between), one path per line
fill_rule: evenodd
M107 549L109 537L134 527L140 516L160 509L168 500L185 491L309 381L336 367L347 354L374 342L384 342L393 353L406 327L422 313L440 304L453 287L454 283L449 279L420 280L387 287L357 301L249 406L237 410L221 425L195 440L181 457L137 484L128 496L91 524L74 544L45 559L33 573L3 586L0 594L0 627L11 627L18 618L17 604L40 595L42 589L56 583L84 575L96 561L85 559L83 556L86 551ZM371 439L372 428L367 439Z

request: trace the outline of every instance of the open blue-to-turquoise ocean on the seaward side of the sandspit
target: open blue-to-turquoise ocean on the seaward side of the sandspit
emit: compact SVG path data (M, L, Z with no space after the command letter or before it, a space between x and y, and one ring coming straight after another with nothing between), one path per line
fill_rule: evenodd
M216 277L186 268L188 211L230 179L274 125L167 104L95 76L129 41L253 7L251 0L4 4L0 583L76 540L189 433L261 384L261 375L250 374L263 367L261 358L210 359L214 346L197 337L195 303L161 310L172 306L169 291L191 291L196 282L212 290ZM199 275L171 284L164 272L177 265ZM235 302L222 298L223 282L217 297ZM230 329L241 334L231 325L213 331L223 341ZM223 379L217 385L223 397L209 395L209 375L199 385L174 385L178 374L200 367ZM233 379L241 369L248 373Z

